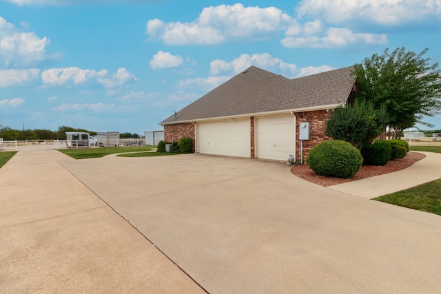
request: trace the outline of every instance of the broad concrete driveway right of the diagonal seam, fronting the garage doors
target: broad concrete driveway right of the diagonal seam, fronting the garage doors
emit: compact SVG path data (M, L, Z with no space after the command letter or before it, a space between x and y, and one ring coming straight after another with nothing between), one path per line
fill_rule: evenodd
M319 187L284 162L59 163L209 293L440 291L440 216Z

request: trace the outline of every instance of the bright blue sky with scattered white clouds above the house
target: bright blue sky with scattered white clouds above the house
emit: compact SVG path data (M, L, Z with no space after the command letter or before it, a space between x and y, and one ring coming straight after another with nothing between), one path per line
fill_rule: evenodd
M441 0L0 0L0 125L143 134L250 65L296 78L402 46L440 63L440 33Z

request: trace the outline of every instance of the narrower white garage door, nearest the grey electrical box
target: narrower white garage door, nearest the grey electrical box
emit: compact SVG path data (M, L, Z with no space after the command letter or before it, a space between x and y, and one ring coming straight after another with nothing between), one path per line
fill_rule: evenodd
M256 157L287 160L294 154L294 116L256 118Z

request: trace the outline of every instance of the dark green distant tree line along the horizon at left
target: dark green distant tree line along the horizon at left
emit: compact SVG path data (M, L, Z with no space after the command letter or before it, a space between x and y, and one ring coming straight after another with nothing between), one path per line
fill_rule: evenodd
M3 140L64 140L66 132L86 132L91 136L96 135L96 132L87 129L76 129L74 127L67 127L65 125L58 128L57 131L50 129L11 129L0 125L0 138ZM123 133L120 138L139 138L138 134Z

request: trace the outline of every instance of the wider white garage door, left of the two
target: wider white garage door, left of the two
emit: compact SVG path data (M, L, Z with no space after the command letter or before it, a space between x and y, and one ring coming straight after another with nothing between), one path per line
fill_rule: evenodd
M249 157L251 134L249 118L198 123L198 152Z

